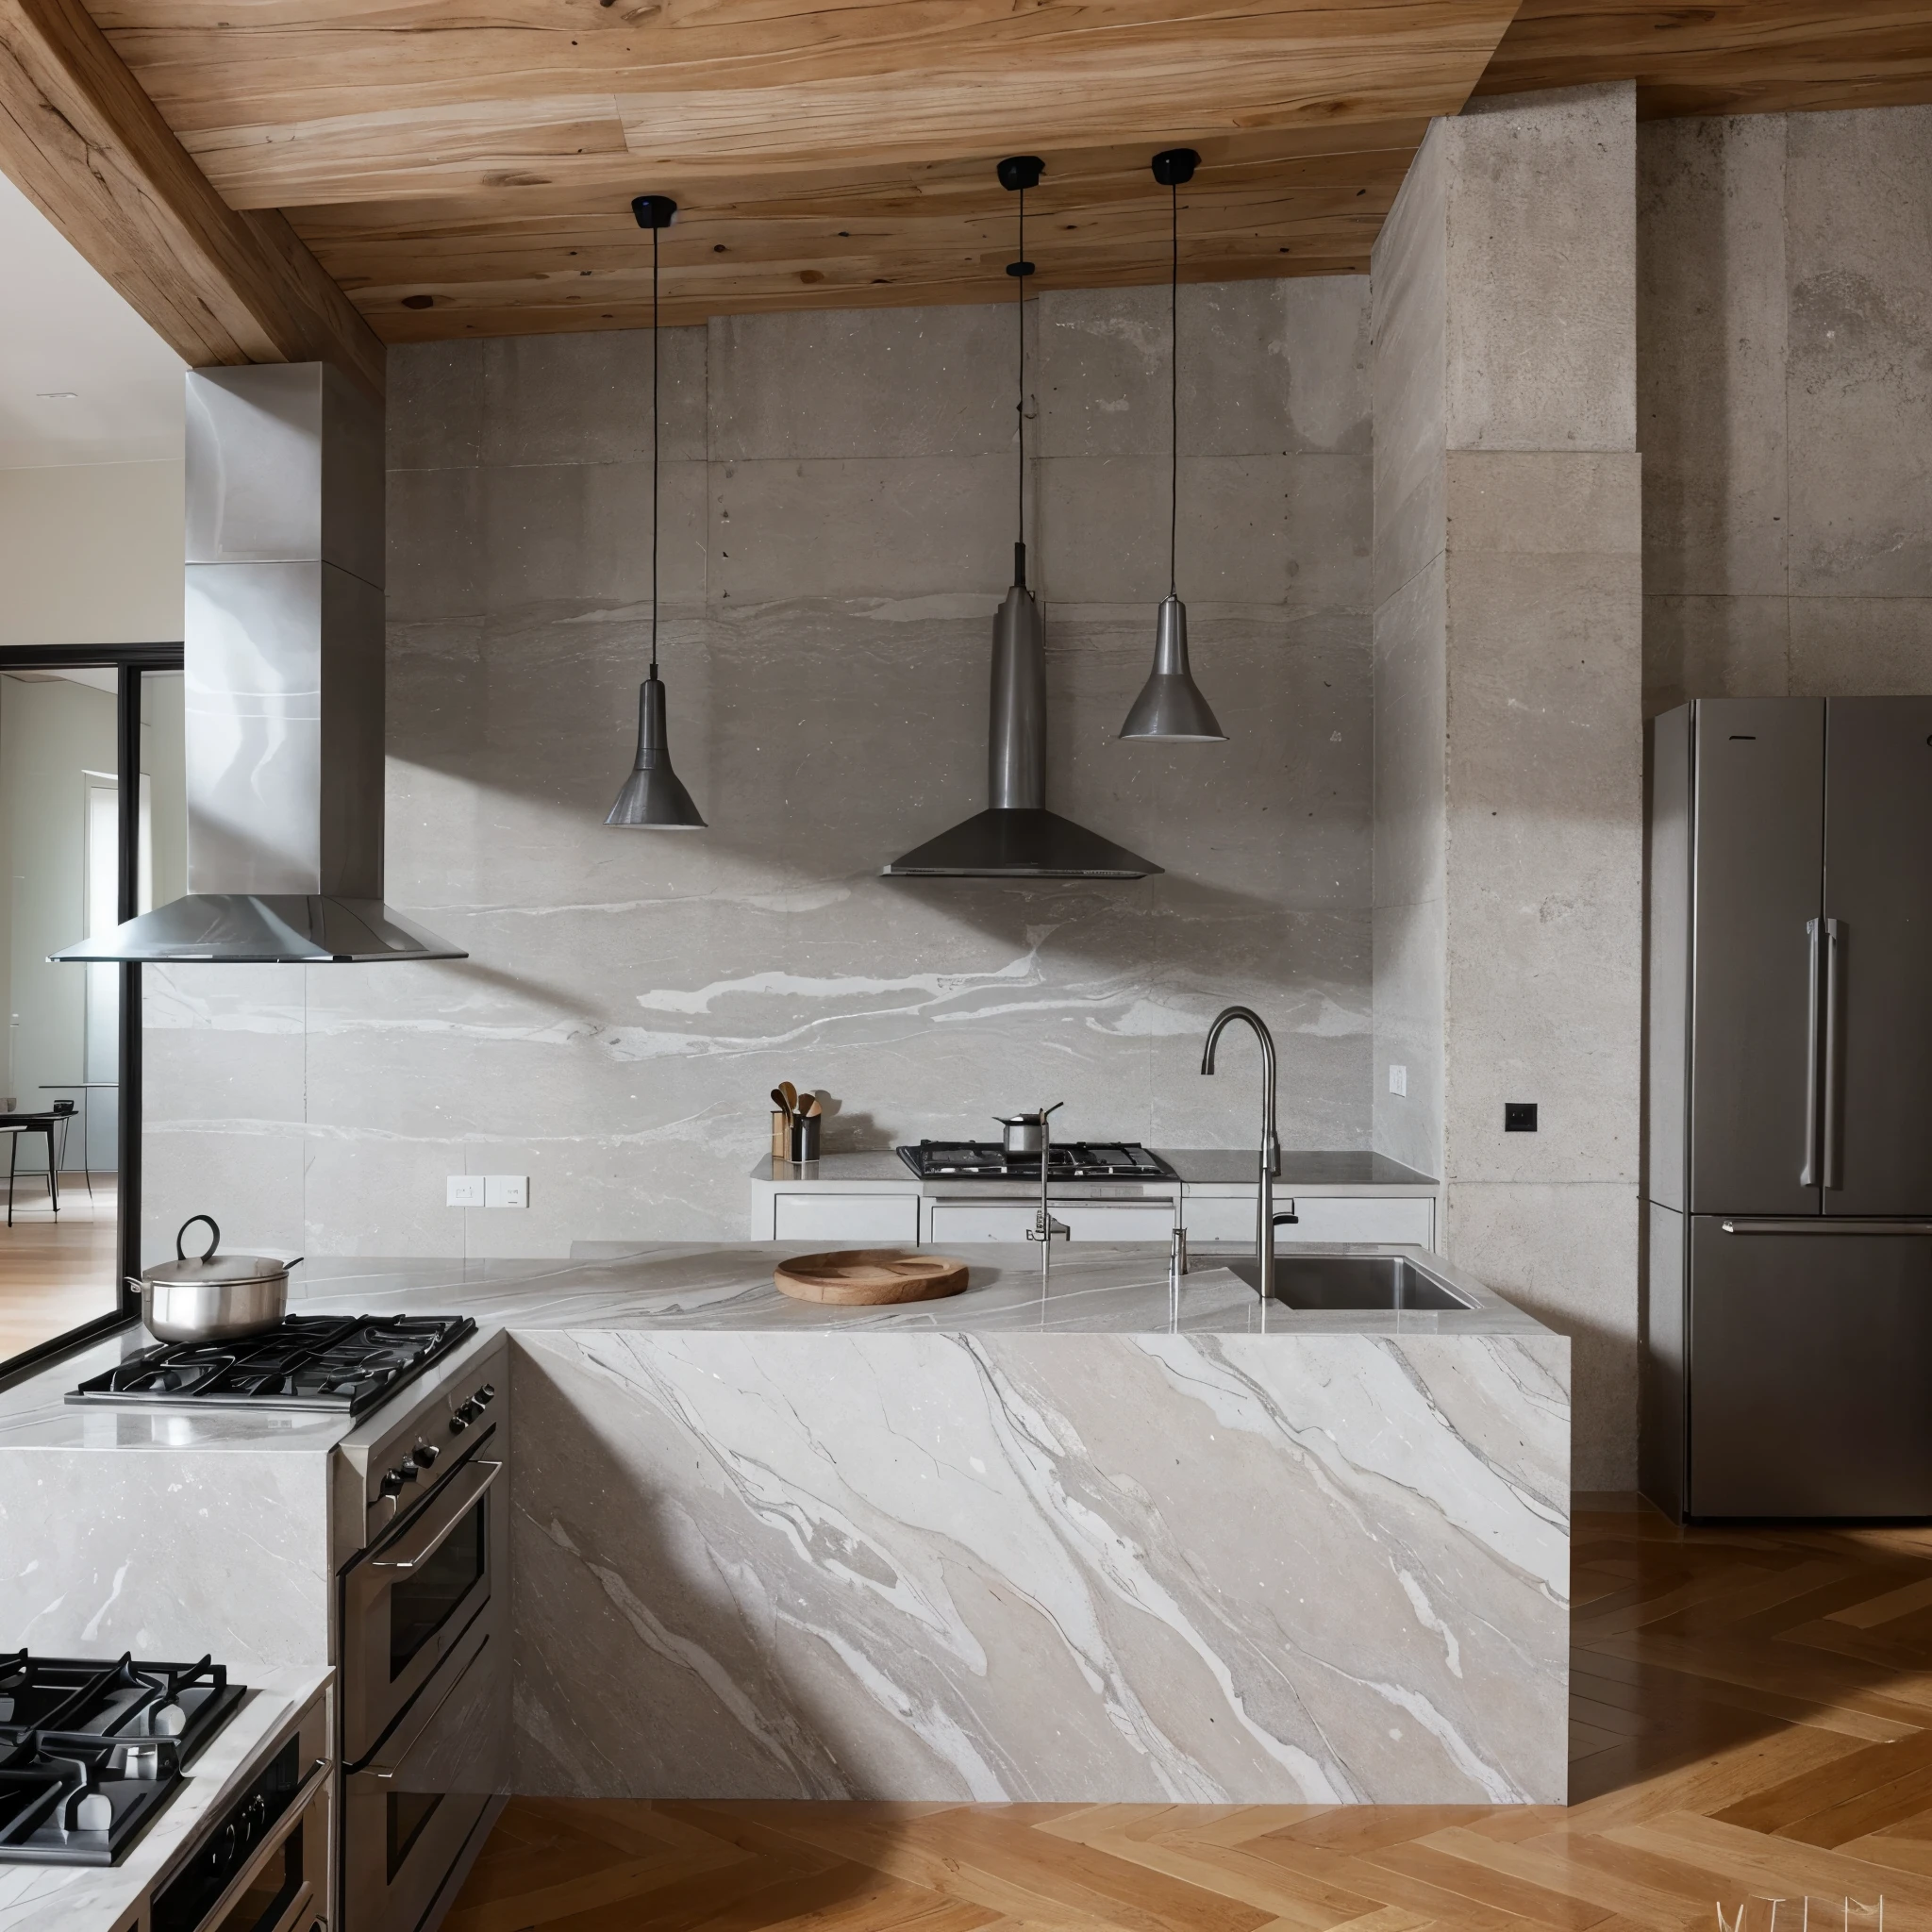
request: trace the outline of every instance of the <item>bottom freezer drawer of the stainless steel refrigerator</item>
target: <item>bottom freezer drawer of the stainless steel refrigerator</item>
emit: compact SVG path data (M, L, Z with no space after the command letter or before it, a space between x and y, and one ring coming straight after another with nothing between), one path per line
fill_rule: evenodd
M1692 1217L1692 1517L1932 1517L1932 1223L1901 1225Z

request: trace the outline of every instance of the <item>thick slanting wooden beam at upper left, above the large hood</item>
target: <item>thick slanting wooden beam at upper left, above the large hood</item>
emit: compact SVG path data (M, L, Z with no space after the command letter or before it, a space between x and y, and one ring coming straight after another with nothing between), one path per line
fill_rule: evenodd
M0 0L0 168L191 367L384 350L274 213L209 185L79 0Z

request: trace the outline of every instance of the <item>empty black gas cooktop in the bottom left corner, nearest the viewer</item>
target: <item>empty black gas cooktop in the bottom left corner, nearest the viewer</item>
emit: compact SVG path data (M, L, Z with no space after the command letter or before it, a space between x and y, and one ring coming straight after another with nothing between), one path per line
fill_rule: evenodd
M209 1658L0 1654L0 1864L114 1864L243 1696Z

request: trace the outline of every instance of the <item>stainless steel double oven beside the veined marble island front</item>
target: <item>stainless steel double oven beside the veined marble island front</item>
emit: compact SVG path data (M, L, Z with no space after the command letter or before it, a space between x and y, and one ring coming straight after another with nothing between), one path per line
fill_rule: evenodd
M508 1366L468 1350L338 1457L342 1932L415 1932L508 1789Z

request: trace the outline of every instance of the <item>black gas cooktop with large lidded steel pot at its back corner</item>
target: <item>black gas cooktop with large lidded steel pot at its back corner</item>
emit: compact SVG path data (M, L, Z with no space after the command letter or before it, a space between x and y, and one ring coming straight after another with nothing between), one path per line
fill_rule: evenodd
M475 1329L469 1316L286 1316L236 1341L156 1343L91 1376L68 1401L359 1416Z

